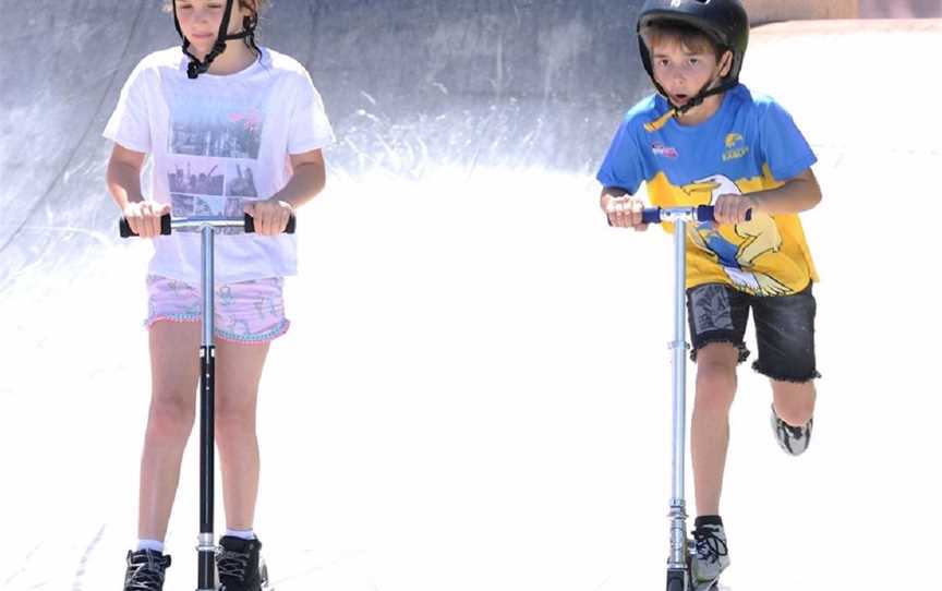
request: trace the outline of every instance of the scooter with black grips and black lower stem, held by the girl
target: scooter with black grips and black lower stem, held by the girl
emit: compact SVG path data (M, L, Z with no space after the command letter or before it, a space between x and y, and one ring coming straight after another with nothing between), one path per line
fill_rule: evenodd
M294 216L288 221L285 233L294 233ZM137 236L131 231L128 220L119 222L121 238ZM214 244L216 232L222 228L242 228L245 233L255 232L252 216L215 217L193 216L171 218L161 216L160 233L169 236L173 229L196 228L202 234L202 293L203 340L200 346L200 536L196 551L200 565L196 591L216 591L216 556L221 548L216 545L213 533L215 507L215 406L216 406L216 346L213 343L213 314L215 293ZM259 560L262 588L269 589L268 568Z

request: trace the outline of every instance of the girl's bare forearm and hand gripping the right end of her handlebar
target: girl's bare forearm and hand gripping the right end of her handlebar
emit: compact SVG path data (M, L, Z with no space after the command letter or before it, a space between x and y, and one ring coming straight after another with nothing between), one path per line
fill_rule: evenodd
M264 236L281 233L295 208L317 196L327 183L324 154L312 149L291 155L293 173L288 184L264 201L245 204L245 213L255 218L255 232Z

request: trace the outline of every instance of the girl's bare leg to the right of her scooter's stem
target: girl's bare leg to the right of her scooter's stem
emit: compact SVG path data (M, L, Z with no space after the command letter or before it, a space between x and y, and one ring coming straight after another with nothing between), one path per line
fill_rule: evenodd
M269 345L216 343L216 445L222 472L226 524L250 530L258 496L255 409Z

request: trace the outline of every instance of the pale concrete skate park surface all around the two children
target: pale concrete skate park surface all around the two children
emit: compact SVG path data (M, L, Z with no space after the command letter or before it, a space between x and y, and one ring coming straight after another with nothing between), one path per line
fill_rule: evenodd
M136 536L149 251L117 239L100 131L134 63L176 40L156 2L83 4L14 8L0 41L4 591L117 588ZM299 215L293 324L259 399L276 588L663 588L671 241L597 210L595 168L648 93L637 9L615 4L277 2L263 23L338 136ZM742 80L820 159L824 201L804 220L824 377L796 459L764 379L740 372L735 591L926 584L906 567L942 527L927 256L942 129L925 108L940 43L928 19L752 32ZM166 589L196 574L195 441Z

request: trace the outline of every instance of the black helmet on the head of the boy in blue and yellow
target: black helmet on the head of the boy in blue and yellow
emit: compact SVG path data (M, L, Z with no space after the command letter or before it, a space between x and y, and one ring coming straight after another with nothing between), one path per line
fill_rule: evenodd
M733 64L724 82L739 81L746 47L749 45L749 16L740 0L648 0L638 19L638 44L648 75L654 77L651 53L641 29L652 21L674 21L700 29L724 50L733 52Z

